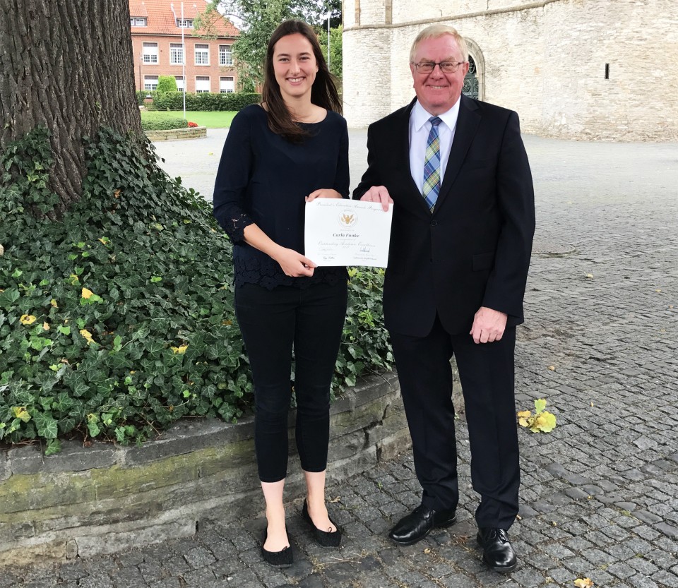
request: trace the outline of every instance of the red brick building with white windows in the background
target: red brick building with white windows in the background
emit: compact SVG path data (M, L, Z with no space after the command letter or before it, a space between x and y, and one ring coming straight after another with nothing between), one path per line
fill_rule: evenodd
M205 30L216 38L201 39L196 36L194 20L199 12L205 11L206 0L183 4L182 20L181 0L129 0L136 89L155 90L158 76L174 76L177 88L182 90L185 84L186 92L235 92L237 73L231 45L237 39L238 29L218 16Z

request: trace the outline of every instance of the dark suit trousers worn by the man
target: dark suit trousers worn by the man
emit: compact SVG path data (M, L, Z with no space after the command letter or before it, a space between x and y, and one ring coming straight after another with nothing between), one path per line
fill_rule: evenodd
M499 342L475 344L448 334L436 316L426 337L391 332L400 393L412 436L422 504L456 508L457 481L452 371L456 356L471 450L471 481L481 501L479 527L509 529L518 514L518 431L513 394L516 329Z

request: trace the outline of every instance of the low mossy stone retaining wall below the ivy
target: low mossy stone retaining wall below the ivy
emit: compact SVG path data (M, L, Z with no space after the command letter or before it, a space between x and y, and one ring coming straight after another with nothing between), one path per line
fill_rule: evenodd
M287 497L302 493L290 415ZM254 423L182 421L141 447L64 443L0 452L0 566L63 560L194 534L204 517L232 520L263 509ZM374 467L408 447L398 380L374 376L331 409L328 478Z

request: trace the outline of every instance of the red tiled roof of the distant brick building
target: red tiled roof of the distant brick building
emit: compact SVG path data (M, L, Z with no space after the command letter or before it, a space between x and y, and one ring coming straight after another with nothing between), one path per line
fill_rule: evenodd
M177 18L182 18L182 0L129 0L129 16L139 16L147 19L145 27L132 27L132 34L138 35L181 35L182 30L177 27ZM184 1L184 18L196 18L198 12L205 11L206 0ZM184 29L184 35L197 32L194 29ZM237 37L239 30L225 17L217 18L210 26L210 34L218 37Z

